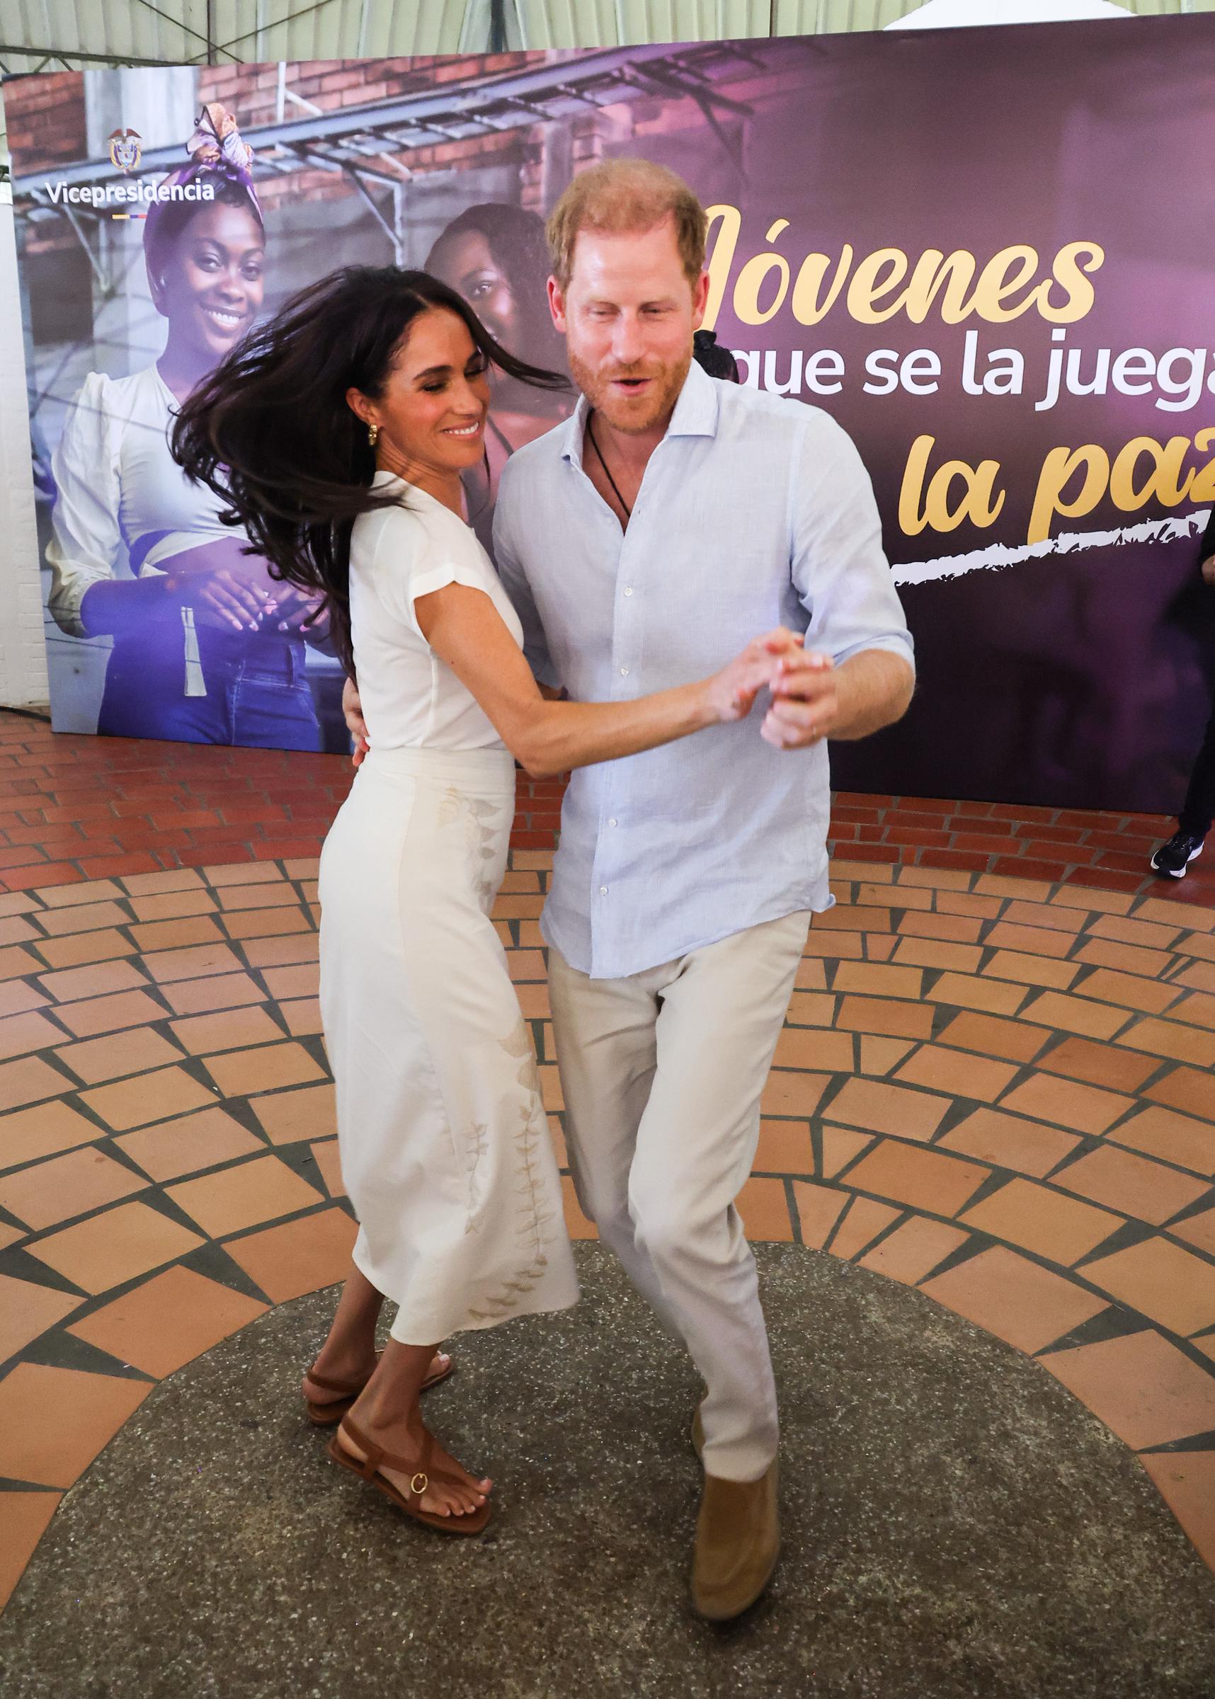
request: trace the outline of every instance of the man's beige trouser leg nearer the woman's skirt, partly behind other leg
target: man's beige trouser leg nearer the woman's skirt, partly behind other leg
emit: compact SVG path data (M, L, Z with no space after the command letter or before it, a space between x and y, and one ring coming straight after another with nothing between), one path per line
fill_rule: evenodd
M549 946L552 1031L578 1203L663 1325L683 1339L629 1215L629 1171L658 1055L656 985L670 972L590 979Z

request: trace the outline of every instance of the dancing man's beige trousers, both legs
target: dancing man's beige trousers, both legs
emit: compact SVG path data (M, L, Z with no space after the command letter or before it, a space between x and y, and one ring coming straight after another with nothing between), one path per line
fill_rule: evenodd
M777 1388L734 1199L809 929L787 914L627 979L549 950L566 1143L583 1211L704 1376L704 1463L758 1480Z

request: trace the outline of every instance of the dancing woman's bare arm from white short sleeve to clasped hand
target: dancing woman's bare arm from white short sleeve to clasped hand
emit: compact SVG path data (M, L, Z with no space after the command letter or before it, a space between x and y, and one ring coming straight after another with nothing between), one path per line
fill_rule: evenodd
M532 778L613 761L744 719L760 690L780 673L782 656L799 642L794 632L768 632L712 678L632 702L545 702L483 590L445 584L418 596L415 613L421 635L476 697Z

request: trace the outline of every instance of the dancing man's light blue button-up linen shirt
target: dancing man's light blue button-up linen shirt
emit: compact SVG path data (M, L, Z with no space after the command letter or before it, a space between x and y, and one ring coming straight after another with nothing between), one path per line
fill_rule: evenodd
M498 573L537 678L625 702L717 671L773 625L836 663L913 661L868 474L819 408L692 365L627 532L583 471L586 399L506 462ZM914 663L913 663L914 664ZM540 931L620 979L797 909L826 909L828 751L732 725L578 768Z

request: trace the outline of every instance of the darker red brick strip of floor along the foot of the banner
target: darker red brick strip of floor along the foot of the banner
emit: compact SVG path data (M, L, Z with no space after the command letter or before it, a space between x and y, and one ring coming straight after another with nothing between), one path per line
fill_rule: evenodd
M0 890L314 856L350 776L342 756L56 737L0 710ZM552 848L562 790L520 776L517 848ZM1159 892L1147 858L1173 826L1161 814L838 792L831 843L853 861L1135 894ZM1215 851L1169 889L1215 904Z

